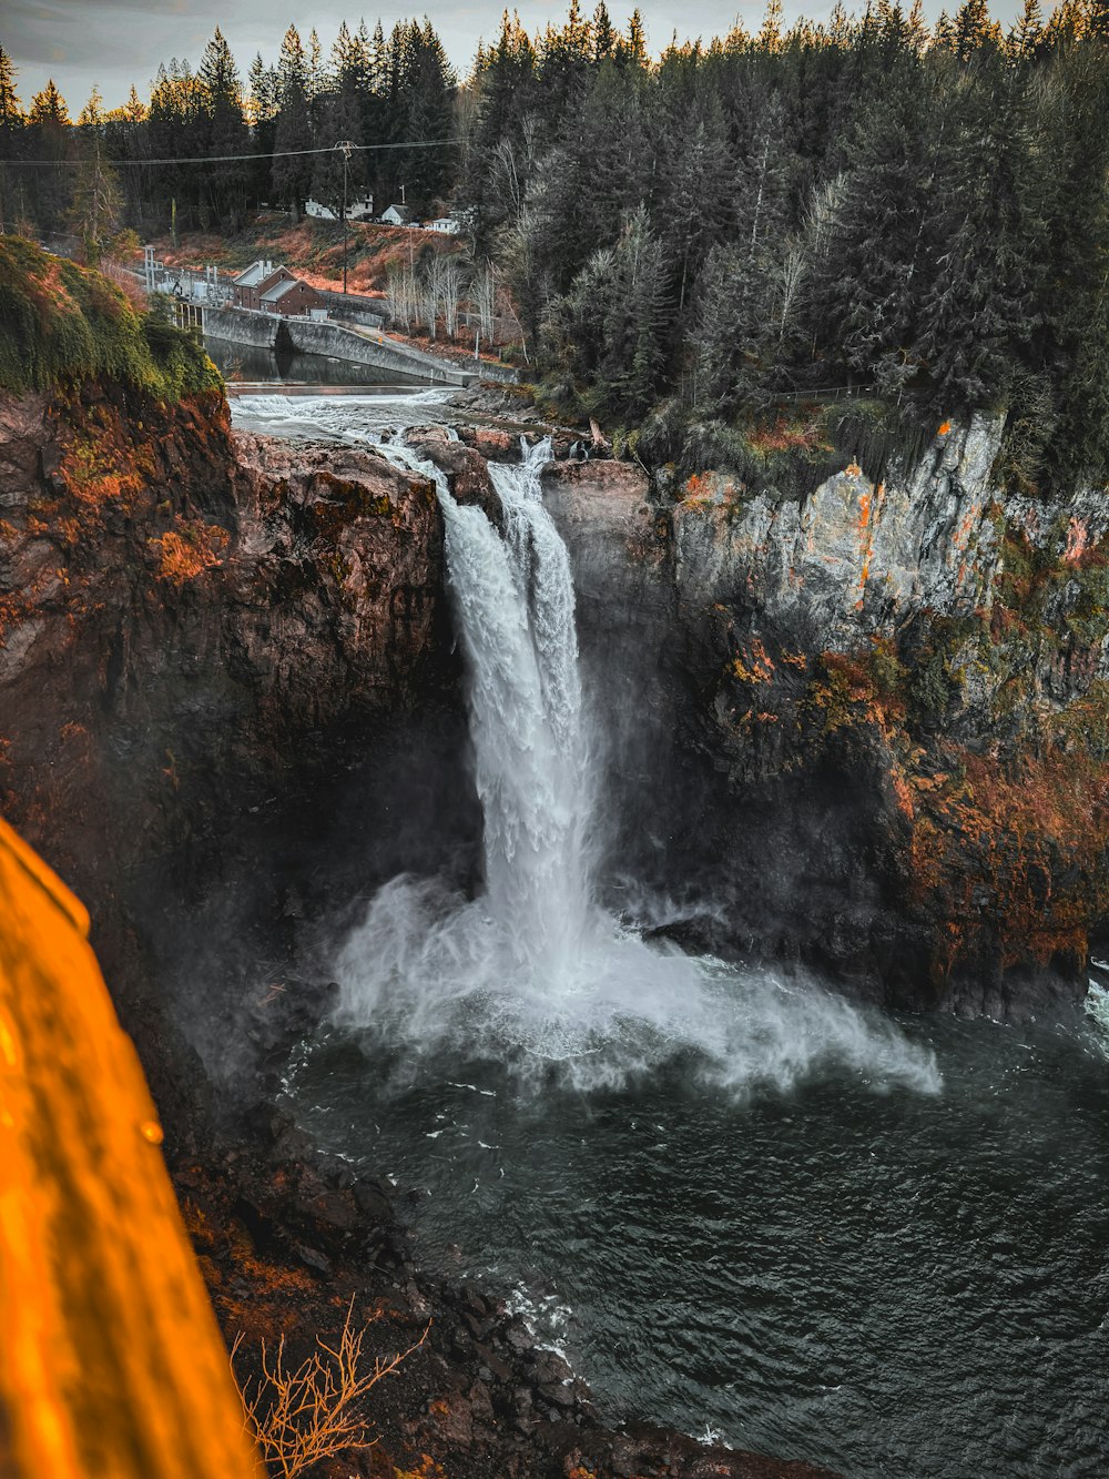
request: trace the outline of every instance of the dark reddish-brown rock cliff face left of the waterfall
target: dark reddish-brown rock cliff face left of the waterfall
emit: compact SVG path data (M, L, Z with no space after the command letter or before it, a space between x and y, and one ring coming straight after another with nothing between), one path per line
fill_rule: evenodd
M160 1097L182 1034L240 1075L321 856L353 898L475 833L433 488L86 386L0 398L0 810L89 902Z

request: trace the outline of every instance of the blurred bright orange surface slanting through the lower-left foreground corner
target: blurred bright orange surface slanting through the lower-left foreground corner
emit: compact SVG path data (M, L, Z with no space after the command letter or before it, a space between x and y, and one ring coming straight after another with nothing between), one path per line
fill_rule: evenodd
M83 905L0 821L0 1475L263 1473Z

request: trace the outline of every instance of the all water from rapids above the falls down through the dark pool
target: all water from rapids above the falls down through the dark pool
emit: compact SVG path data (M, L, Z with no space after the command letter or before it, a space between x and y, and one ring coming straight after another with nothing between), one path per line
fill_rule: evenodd
M234 414L384 424L356 398ZM439 491L485 881L350 901L287 1108L396 1185L424 1266L510 1291L609 1417L849 1479L1103 1475L1109 1012L893 1021L685 952L649 901L606 911L544 448L491 469L501 528L383 451Z

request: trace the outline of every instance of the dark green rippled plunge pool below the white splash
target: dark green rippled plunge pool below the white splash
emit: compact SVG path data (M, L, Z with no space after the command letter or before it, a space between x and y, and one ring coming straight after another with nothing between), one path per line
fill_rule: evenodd
M1109 1473L1109 1062L1088 1019L911 1021L939 1093L825 1066L736 1097L322 1035L290 1077L423 1256L516 1297L609 1415L852 1479Z

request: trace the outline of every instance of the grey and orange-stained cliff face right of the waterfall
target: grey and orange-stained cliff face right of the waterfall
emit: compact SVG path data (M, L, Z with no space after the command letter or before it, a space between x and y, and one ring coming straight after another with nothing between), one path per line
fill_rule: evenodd
M648 818L615 847L659 881L667 855L732 944L992 1015L1081 992L1109 908L1109 516L1094 493L1001 495L1000 433L945 430L887 485L850 467L801 500L549 478L593 691L625 688L628 753L665 757L654 784L612 765Z

